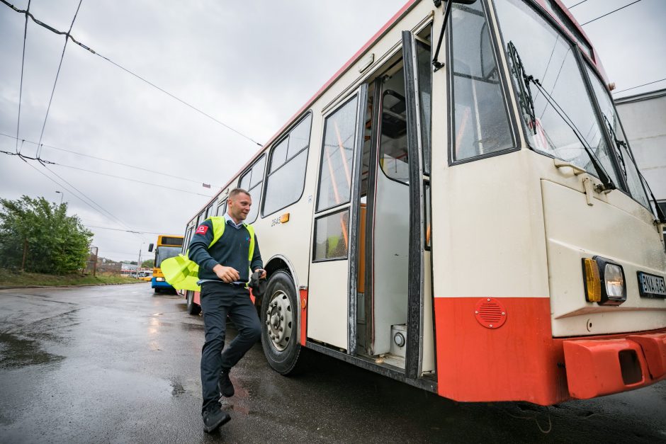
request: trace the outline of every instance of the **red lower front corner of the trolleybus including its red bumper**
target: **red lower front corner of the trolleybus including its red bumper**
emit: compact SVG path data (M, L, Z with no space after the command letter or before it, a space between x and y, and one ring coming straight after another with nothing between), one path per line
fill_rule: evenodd
M661 368L659 356L666 355L666 329L638 335L553 338L548 297L497 298L507 319L501 327L490 329L476 319L475 306L480 299L434 300L437 388L442 397L461 402L527 401L551 405L572 397L623 392L666 379L666 375L657 372L650 375L650 368ZM633 345L641 341L648 344L645 351ZM614 347L613 365L606 354L609 343ZM640 363L637 371L643 375L640 382L623 381L616 353L621 350L636 353ZM590 381L594 381L594 387L589 387Z

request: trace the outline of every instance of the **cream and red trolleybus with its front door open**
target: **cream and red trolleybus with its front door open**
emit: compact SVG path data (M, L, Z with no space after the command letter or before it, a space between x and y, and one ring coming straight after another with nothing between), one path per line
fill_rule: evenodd
M249 190L283 374L305 347L465 402L664 380L664 220L607 84L560 0L409 1L184 248Z

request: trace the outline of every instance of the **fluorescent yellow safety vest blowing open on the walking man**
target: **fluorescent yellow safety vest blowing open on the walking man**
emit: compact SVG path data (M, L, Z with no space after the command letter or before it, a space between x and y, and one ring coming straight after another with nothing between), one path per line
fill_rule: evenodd
M219 216L208 217L206 220L210 220L213 223L213 241L208 245L208 248L210 248L225 233L227 222L224 217ZM250 235L248 260L252 263L252 256L254 256L254 227L249 224L243 224L243 226L247 228L247 232ZM164 279L176 290L201 291L201 287L197 285L197 281L199 280L199 266L196 262L191 261L188 256L189 250L185 254L164 259L160 264L162 273L164 273Z

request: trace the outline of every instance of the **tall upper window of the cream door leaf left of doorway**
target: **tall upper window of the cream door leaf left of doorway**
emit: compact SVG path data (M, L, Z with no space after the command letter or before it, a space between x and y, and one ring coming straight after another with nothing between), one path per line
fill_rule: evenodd
M358 101L354 96L326 118L317 211L349 202Z

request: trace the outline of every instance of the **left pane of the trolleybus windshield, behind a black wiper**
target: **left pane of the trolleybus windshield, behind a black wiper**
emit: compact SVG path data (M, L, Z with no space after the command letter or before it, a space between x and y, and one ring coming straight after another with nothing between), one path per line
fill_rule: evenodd
M532 86L530 100L530 91L519 87L522 81L519 69L511 67L517 91L521 91L518 99L531 146L602 178L582 139L603 172L613 183L619 184L611 147L606 144L604 127L594 111L575 48L523 1L497 0L495 4L504 50L512 44L525 73L538 79L550 96L546 97L541 89Z

